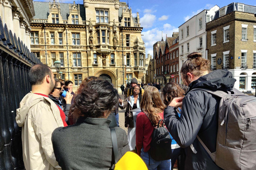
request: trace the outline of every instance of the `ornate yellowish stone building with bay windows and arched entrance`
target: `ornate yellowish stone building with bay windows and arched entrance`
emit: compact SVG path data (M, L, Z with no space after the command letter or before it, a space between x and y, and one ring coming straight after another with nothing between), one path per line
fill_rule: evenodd
M145 45L139 13L118 0L67 4L34 1L31 50L61 79L73 81L74 91L88 76L106 79L115 88L137 78L145 69ZM60 69L54 66L61 62Z

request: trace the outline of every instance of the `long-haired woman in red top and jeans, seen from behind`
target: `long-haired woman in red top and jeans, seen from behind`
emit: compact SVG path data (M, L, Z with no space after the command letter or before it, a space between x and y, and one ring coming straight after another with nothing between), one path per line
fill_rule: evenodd
M154 126L158 124L159 120L164 119L165 105L157 88L153 86L145 88L140 107L143 112L138 114L136 122L136 147L138 155L144 160L149 170L170 170L170 159L156 161L148 154Z

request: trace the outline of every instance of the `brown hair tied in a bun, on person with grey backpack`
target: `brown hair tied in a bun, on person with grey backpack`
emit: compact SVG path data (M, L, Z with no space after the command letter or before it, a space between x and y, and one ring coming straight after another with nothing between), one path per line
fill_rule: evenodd
M210 72L210 61L202 58L201 53L191 53L188 60L183 63L180 72L186 75L188 72L193 72L195 76L202 76L205 72Z

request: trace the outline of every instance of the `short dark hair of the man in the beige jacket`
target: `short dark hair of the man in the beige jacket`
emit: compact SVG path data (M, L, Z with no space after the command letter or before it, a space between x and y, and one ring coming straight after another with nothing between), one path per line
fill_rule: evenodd
M46 75L52 79L52 71L49 66L44 64L36 64L32 66L28 72L28 81L33 85L40 85L43 83Z

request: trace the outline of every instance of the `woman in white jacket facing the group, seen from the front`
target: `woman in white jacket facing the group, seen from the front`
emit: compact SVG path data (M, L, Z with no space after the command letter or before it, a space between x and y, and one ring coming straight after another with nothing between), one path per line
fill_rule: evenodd
M141 88L139 86L134 86L132 88L133 95L127 97L124 101L119 99L119 108L126 109L125 111L125 128L128 128L128 140L130 150L135 150L136 146L136 136L135 136L135 128L136 128L136 117L131 110L140 108L140 101L142 99Z

